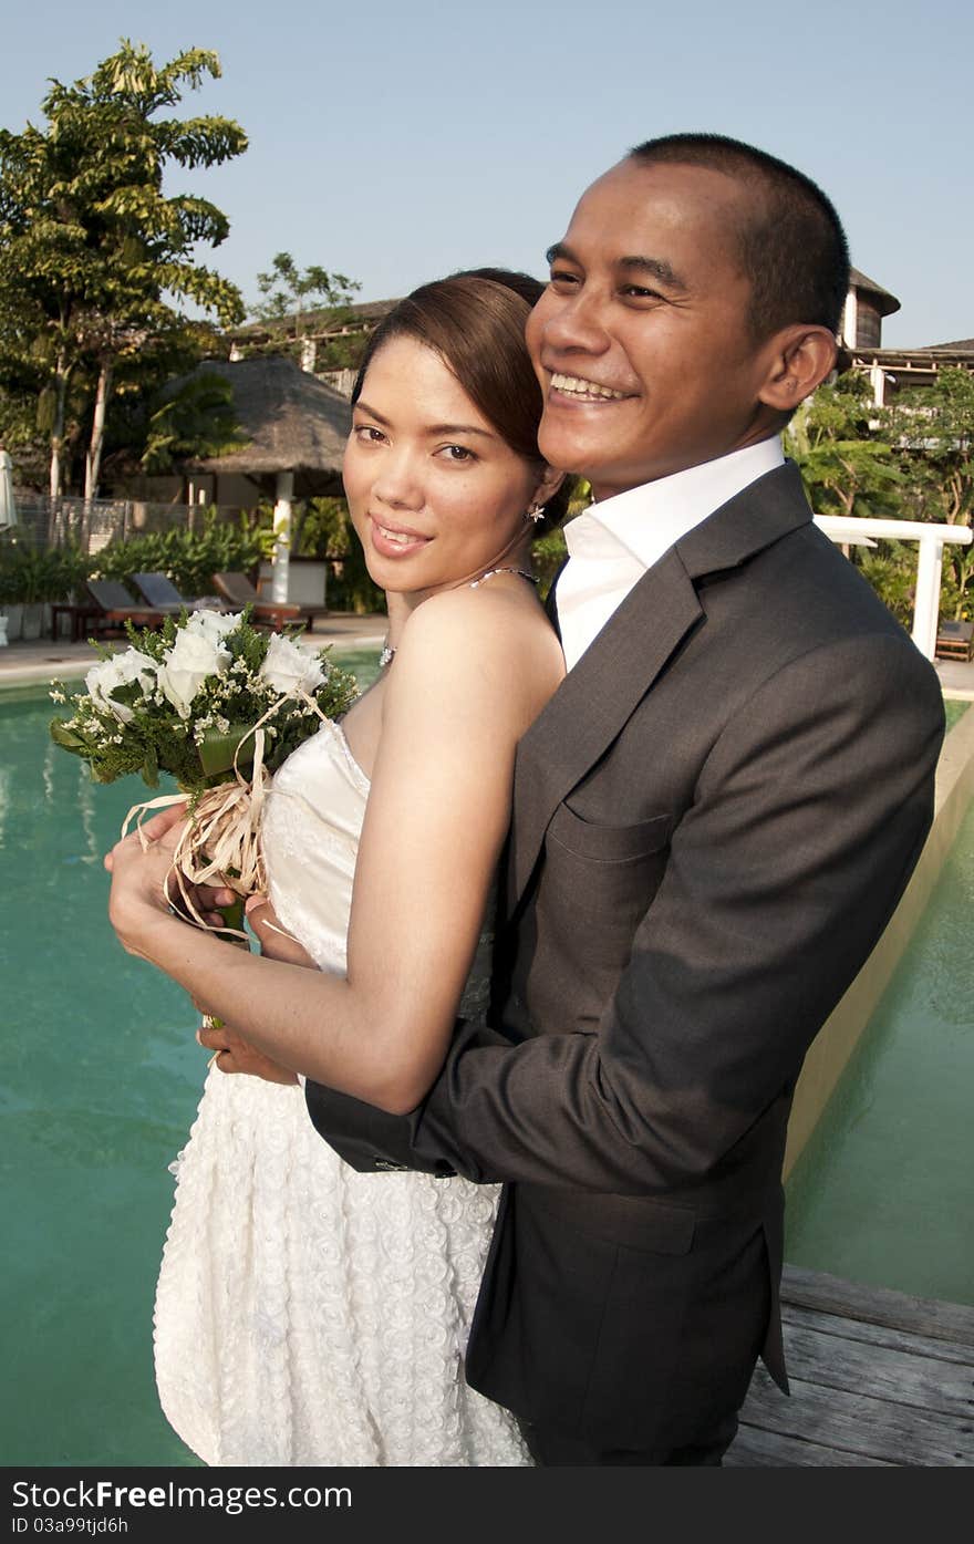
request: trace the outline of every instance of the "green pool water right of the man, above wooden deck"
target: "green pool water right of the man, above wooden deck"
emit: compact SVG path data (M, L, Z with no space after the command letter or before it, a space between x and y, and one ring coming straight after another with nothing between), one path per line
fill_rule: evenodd
M974 1305L974 808L789 1183L786 1258Z

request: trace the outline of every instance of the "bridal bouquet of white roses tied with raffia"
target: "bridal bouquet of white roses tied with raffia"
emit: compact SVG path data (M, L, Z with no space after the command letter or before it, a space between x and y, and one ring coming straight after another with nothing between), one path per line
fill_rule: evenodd
M159 630L130 624L128 638L120 653L99 647L85 692L69 695L52 682L52 699L69 704L71 716L52 720L51 736L88 763L96 783L130 772L150 787L161 772L176 778L181 794L136 804L122 834L133 818L188 797L173 874L199 922L187 883L227 885L241 900L265 889L261 812L270 775L323 718L350 706L357 682L327 650L259 631L247 611L184 613Z

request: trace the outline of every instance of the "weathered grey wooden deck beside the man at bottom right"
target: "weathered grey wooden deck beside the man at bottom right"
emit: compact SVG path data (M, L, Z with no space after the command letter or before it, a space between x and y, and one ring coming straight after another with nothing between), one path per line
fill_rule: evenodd
M974 1308L786 1266L790 1397L759 1365L727 1467L974 1464Z

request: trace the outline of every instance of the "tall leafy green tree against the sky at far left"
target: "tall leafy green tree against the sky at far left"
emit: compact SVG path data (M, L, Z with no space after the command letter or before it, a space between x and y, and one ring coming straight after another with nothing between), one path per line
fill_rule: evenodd
M185 303L225 326L244 315L236 286L194 258L199 242L225 239L225 215L162 191L171 165L219 165L247 148L232 119L157 116L219 74L210 49L157 68L145 45L123 39L91 76L51 82L45 128L0 131L0 386L23 395L25 380L37 383L52 497L71 391L88 425L85 496L94 497L119 372L137 372L147 349L171 347L191 327Z

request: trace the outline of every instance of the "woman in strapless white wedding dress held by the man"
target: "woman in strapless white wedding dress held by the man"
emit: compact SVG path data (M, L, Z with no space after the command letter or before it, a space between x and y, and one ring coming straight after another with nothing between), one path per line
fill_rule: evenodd
M514 750L563 675L529 573L565 497L536 448L533 284L424 286L357 381L344 483L389 598L383 670L281 767L265 820L270 899L320 970L170 916L168 840L108 860L125 948L281 1067L279 1085L213 1070L176 1166L156 1371L210 1464L529 1462L462 1379L495 1187L352 1172L295 1075L411 1110L457 1011L486 1005Z

